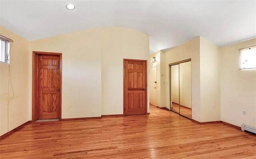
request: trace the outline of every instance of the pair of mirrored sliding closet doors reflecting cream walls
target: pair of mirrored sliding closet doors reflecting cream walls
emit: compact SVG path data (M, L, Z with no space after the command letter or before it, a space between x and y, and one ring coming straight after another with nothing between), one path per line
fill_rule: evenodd
M191 59L169 64L171 111L192 119Z

